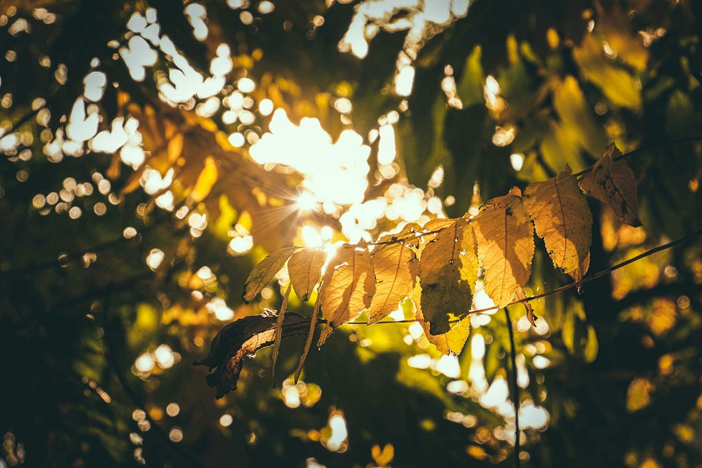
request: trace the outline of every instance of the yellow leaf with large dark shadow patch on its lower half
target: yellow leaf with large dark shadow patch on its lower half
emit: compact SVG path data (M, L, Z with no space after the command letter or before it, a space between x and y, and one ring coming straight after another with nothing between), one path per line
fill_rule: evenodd
M459 318L468 314L477 269L475 237L468 220L453 220L424 247L419 260L420 302L432 334L451 329L450 314Z

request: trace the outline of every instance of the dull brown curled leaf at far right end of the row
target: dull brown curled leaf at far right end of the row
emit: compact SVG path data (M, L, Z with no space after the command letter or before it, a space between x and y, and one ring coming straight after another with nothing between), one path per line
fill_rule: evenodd
M636 179L623 159L614 161L621 152L610 143L604 155L592 166L592 171L580 181L583 190L609 206L619 220L630 226L640 226Z

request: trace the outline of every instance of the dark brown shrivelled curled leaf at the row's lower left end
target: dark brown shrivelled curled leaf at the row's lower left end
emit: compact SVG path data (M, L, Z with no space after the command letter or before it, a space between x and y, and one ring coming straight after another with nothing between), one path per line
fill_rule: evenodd
M195 366L207 366L215 371L207 376L207 385L217 388L217 398L237 389L239 373L244 366L244 356L272 344L276 318L272 316L248 316L227 324L217 333L210 353ZM291 312L282 323L282 337L302 335L308 329L309 319Z

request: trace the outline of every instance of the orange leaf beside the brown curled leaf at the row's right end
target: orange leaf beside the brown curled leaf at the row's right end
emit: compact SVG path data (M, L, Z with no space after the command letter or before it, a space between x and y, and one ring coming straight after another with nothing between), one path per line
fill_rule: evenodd
M555 178L530 184L522 202L553 266L564 273L578 269L590 252L592 214L571 168L566 165Z

